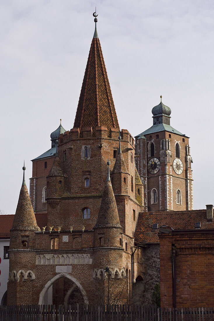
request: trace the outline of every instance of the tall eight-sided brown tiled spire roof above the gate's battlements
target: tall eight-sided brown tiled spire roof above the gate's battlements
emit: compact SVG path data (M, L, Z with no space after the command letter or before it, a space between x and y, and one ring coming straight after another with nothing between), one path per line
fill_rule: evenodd
M100 40L94 37L89 51L82 89L74 121L74 128L96 126L118 128L118 119L114 107L111 88L103 59Z

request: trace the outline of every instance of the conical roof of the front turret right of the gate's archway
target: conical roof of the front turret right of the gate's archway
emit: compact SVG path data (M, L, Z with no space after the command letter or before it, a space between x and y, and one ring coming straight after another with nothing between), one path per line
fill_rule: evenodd
M109 164L108 161L108 175L105 183L103 198L100 206L100 211L97 217L96 225L94 229L99 227L118 227L122 228L120 225L119 215L117 211L117 204L114 197L114 192L111 186L111 180L109 175Z

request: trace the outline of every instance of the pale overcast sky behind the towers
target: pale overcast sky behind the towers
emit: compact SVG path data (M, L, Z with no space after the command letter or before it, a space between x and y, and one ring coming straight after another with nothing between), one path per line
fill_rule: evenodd
M70 130L97 30L120 128L152 126L153 106L172 109L171 126L190 136L194 209L214 203L213 0L1 0L0 209L15 213L31 159Z

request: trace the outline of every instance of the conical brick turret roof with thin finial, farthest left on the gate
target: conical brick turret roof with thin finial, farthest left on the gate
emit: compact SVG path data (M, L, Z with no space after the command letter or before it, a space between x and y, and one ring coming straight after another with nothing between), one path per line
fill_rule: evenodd
M25 171L25 166L23 170ZM28 189L25 183L25 176L23 173L22 187L19 194L19 200L16 208L16 213L13 220L13 226L11 230L30 230L40 231L37 225L31 199L28 194Z

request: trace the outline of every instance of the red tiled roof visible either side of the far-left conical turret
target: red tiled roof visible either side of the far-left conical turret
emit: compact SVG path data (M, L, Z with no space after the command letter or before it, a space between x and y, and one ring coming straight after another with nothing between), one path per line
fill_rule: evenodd
M9 238L10 230L12 229L14 214L0 215L0 238ZM43 226L47 225L47 213L35 214L37 225L42 230Z

